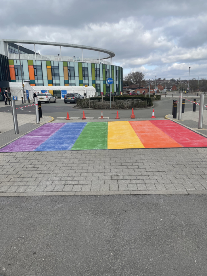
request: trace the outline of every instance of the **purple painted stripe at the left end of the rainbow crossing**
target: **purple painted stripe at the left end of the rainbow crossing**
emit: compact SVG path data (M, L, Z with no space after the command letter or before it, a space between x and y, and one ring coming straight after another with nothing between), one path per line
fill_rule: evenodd
M0 152L32 152L66 123L48 123L3 147Z

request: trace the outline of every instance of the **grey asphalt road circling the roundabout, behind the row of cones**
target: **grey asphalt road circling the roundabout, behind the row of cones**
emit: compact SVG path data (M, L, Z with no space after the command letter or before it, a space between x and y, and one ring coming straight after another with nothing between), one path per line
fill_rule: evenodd
M193 99L194 97L189 97L189 99ZM198 97L199 99L199 97ZM197 101L199 103L199 100ZM32 103L30 103L32 104ZM154 110L155 116L157 118L164 118L165 115L172 114L173 100L172 98L162 98L161 100L154 101ZM28 105L28 103L26 103ZM25 106L25 104L20 104L18 107ZM67 112L69 112L69 117L83 117L83 110L73 108L74 104L65 104L63 99L57 99L56 103L44 104L42 103L42 114L52 117L66 117ZM197 106L198 108L198 106ZM193 104L186 101L185 110L191 111L193 110ZM178 110L177 110L178 111ZM11 112L11 106L2 105L0 108L0 112ZM105 117L115 118L117 110L103 110L103 114ZM34 106L30 106L23 109L17 109L17 113L20 114L35 114ZM152 109L141 109L135 110L134 114L137 119L139 118L150 118L152 116ZM131 110L119 110L120 118L130 118ZM94 117L97 119L101 116L101 110L85 110L86 117Z

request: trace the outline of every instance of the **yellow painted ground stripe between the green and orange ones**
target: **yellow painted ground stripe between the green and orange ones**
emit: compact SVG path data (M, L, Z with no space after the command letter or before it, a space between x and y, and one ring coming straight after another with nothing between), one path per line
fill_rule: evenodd
M140 139L126 122L108 122L108 149L144 148Z

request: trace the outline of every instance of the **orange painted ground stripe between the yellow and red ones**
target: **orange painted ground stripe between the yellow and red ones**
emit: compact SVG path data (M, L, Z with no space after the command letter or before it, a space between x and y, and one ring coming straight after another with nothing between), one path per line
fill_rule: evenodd
M182 147L150 121L129 122L145 148Z

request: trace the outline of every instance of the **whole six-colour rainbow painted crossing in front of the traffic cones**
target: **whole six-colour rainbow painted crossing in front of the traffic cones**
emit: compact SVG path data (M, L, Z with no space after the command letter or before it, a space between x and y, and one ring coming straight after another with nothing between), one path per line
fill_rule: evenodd
M49 123L0 152L207 147L207 138L170 120Z

